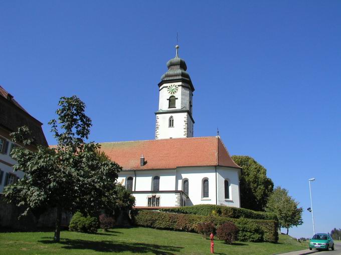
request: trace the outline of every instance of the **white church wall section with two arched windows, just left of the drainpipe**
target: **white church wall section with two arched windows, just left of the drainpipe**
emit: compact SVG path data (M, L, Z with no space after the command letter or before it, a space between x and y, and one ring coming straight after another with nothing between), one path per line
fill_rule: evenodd
M209 197L203 197L203 179L209 180ZM177 168L177 188L184 190L183 180L189 181L189 198L187 205L216 204L216 177L214 167L179 167Z

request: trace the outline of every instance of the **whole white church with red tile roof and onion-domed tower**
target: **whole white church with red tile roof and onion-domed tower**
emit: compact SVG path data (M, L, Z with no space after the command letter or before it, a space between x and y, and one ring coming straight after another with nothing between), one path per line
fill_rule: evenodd
M136 208L240 207L241 167L219 135L194 137L195 89L178 45L167 67L158 83L155 139L101 143L122 166L117 181L136 198Z

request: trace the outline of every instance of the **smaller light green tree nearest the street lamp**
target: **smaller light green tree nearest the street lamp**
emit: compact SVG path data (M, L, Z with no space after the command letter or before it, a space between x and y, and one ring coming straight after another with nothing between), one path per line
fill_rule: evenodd
M286 234L289 233L290 227L303 224L303 208L298 207L298 202L288 194L288 190L280 186L273 190L265 209L266 211L276 213L279 221L279 230L281 227L286 228Z

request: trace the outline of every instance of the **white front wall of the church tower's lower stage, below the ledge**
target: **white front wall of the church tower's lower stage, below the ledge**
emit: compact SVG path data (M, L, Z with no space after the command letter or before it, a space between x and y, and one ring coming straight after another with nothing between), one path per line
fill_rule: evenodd
M174 118L174 127L169 127L169 117L173 116ZM187 120L186 112L179 113L162 113L157 114L158 117L158 139L165 138L178 138L178 137L186 137L185 135L185 120Z

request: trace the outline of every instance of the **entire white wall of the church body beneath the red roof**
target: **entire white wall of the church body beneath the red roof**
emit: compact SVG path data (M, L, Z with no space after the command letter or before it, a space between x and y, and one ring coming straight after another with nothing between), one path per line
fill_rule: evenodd
M240 207L239 195L239 176L238 169L233 167L217 167L217 201L216 201L216 169L214 166L202 167L178 167L177 169L161 170L136 170L136 179L134 171L121 171L118 182L126 185L126 178L133 177L133 192L136 198L136 206L147 206L147 196L157 193L160 196L159 206L176 206L175 192L160 192L152 190L152 179L159 176L160 191L184 190L183 182L189 181L189 200L186 205L195 204L223 204L227 206ZM209 197L203 197L203 179L209 180ZM230 198L225 199L224 180L229 181ZM136 184L135 184L136 181ZM134 186L136 185L136 189Z

